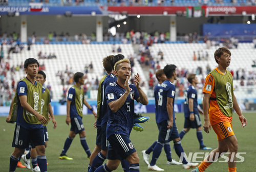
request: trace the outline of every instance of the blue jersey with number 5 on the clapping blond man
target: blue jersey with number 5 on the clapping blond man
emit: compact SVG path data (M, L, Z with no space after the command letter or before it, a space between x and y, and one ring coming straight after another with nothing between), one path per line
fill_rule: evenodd
M109 121L106 126L106 137L109 138L113 134L121 134L130 137L134 120L134 100L139 98L139 93L134 84L129 84L130 95L127 96L125 102L120 109L114 113L108 106ZM125 89L118 85L117 82L106 87L106 102L119 99L125 93Z

